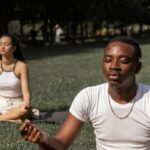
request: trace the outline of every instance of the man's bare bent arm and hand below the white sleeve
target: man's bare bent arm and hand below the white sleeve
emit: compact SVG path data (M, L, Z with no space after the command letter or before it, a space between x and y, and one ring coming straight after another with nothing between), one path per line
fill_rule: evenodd
M38 143L41 150L65 150L77 137L83 124L83 122L69 114L52 138L48 138L45 133L29 121L23 123L20 132L25 140Z

